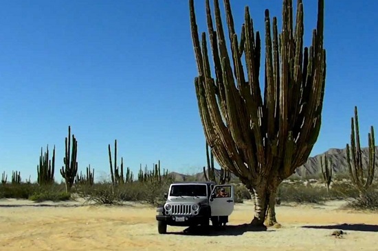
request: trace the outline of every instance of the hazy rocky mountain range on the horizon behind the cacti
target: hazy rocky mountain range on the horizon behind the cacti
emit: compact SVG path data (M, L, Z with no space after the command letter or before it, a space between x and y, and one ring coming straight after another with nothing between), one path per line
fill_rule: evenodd
M378 146L375 147L375 163L378 165ZM320 167L320 158L324 159L324 155L328 156L332 160L332 170L333 174L337 173L345 173L348 171L348 163L346 162L346 148L344 149L337 149L337 148L331 148L330 150L318 154L313 157L309 157L307 159L307 162L304 163L304 165L301 165L296 169L296 174L294 176L300 176L302 178L308 178L309 176L316 176L320 174L321 167ZM367 165L368 163L368 147L362 148L362 163L364 165ZM218 179L219 176L221 176L221 170L215 169L216 173L215 176ZM198 174L194 174L192 176L185 175L185 174L179 174L177 172L171 172L171 175L175 177L176 181L184 181L184 180L198 180L198 181L204 181L205 176L203 175L203 172L199 172ZM236 179L236 176L232 174L232 179Z

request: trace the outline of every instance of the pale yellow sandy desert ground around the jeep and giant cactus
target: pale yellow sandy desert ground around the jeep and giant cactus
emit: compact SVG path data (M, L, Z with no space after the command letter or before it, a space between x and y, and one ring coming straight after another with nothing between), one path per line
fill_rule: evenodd
M252 219L252 204L245 202L236 205L229 228L201 236L172 226L170 234L159 235L155 208L140 204L0 200L0 250L378 250L378 214L340 206L281 205L276 211L282 228L252 232L235 227ZM336 229L346 235L331 236Z

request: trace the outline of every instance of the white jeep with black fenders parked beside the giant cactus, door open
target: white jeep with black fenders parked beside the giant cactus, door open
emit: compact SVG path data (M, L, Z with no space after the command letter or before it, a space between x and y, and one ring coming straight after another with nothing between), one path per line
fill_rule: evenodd
M215 182L179 182L170 184L164 206L157 208L157 230L167 232L167 226L198 226L207 231L210 226L228 222L234 211L234 186Z

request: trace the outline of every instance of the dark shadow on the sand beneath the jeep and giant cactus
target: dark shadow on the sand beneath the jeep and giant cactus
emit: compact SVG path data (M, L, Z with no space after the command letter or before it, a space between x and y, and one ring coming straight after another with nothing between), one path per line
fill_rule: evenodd
M201 226L192 226L186 228L183 232L168 232L170 235L194 235L194 236L238 236L245 232L262 232L267 231L266 226L252 226L250 224L229 225L222 227L210 227L208 232L205 232ZM269 232L274 230L269 230Z

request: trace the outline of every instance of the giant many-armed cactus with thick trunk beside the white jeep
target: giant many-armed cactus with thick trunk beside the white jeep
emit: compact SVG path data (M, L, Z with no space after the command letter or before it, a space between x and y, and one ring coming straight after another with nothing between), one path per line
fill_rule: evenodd
M249 8L245 8L241 36L236 35L230 0L223 2L228 34L223 30L219 0L214 0L215 22L210 0L205 1L212 77L206 34L200 40L194 0L189 1L198 69L194 86L203 132L219 165L250 188L256 204L252 224L263 224L268 208L271 222L276 222L270 197L282 180L306 162L320 131L326 75L324 0L318 0L318 23L309 48L303 47L302 0L298 0L295 22L293 1L283 0L281 34L276 17L271 27L269 10L265 10L263 95L260 33L255 33Z

